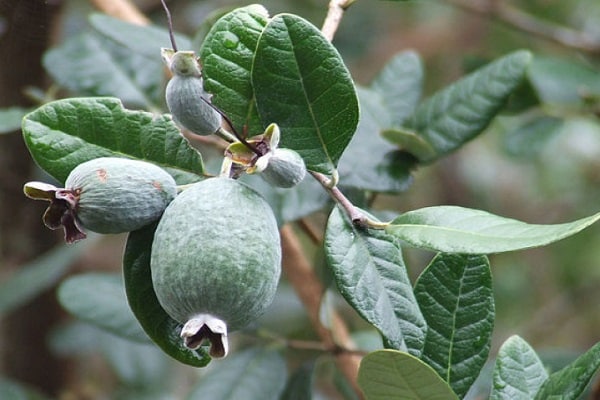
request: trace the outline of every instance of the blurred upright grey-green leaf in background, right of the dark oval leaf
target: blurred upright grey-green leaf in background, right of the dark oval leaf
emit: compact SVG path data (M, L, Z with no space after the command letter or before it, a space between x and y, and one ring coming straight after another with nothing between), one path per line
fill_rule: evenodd
M391 116L390 126L399 127L417 107L422 86L423 66L419 55L404 51L388 61L369 88L381 96Z

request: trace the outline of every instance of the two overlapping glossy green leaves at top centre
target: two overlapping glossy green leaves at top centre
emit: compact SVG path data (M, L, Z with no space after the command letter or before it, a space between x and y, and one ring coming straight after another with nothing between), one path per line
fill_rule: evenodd
M212 27L202 49L205 87L237 130L274 122L281 146L308 169L332 174L358 124L354 84L337 50L308 21L236 9Z

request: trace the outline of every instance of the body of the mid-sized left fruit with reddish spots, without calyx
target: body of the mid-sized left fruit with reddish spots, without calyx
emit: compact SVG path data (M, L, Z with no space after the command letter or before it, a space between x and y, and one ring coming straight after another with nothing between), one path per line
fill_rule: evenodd
M121 233L156 221L177 186L162 168L144 161L101 157L69 174L57 198L74 202L77 220L98 233Z

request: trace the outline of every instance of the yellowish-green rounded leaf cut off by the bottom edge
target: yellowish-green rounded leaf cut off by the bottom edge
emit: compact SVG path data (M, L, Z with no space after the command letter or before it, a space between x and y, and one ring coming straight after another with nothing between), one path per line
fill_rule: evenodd
M458 400L429 365L396 350L367 354L360 363L358 385L366 400Z

